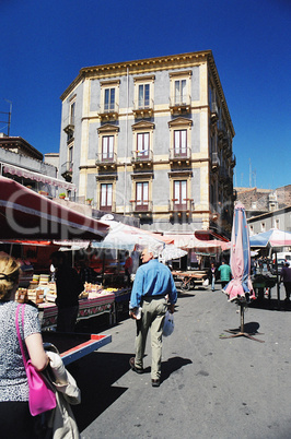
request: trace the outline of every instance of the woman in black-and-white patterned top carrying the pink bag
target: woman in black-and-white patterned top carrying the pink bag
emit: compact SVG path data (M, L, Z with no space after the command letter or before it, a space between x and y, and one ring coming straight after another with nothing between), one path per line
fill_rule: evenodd
M34 418L28 407L28 383L19 344L14 301L20 265L5 253L0 254L0 436L1 439L33 439ZM26 357L36 370L48 365L43 347L36 308L25 305L21 339Z

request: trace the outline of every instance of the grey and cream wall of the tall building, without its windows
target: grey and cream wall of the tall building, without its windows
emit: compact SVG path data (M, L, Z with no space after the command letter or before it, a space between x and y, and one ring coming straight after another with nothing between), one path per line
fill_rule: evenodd
M182 73L184 74L181 75ZM152 112L137 115L135 100L137 87L143 83L140 81L141 78L150 84L150 98L153 99L154 105ZM144 228L159 230L162 227L161 224L167 225L175 232L209 228L212 217L221 209L218 203L218 193L221 192L221 203L226 201L233 204L232 191L229 191L228 195L222 193L224 189L222 190L219 186L219 177L212 173L210 126L212 123L211 129L216 132L213 135L218 135L218 128L216 122L211 122L210 78L214 90L217 87L217 100L221 99L221 108L224 106L224 121L228 123L232 157L234 131L210 51L82 69L80 75L61 96L60 137L60 168L69 159L69 147L73 146L72 182L79 188L79 198L93 198L98 209L100 183L114 181L115 212L130 214L132 213L130 200L136 197L135 183L142 181L142 174L146 173L144 179L149 181L152 213L139 215ZM187 81L186 88L190 103L185 112L183 107L171 110L170 103L175 79ZM119 105L117 117L108 120L100 107L104 99L104 87L115 88ZM73 135L68 141L68 133L65 130L68 130L70 126L70 107L73 102L75 103ZM153 128L149 129L152 132L150 149L154 154L153 161L150 164L146 163L143 167L133 166L131 163L132 151L137 149L136 123L140 121L153 124ZM170 161L175 122L184 123L181 129L187 127L185 128L188 137L187 146L191 149L188 162ZM114 128L117 130L114 134L117 161L113 168L100 167L96 164L102 140L100 130L105 130L106 127L110 130L108 132L113 132ZM216 142L218 144L218 141ZM230 166L230 159L228 163L229 182L232 188L233 167ZM168 210L175 179L186 179L188 182L187 197L193 200L193 207L187 214L182 212L181 215L176 215ZM213 205L210 204L211 181L214 181L216 187ZM137 212L133 213L137 214Z

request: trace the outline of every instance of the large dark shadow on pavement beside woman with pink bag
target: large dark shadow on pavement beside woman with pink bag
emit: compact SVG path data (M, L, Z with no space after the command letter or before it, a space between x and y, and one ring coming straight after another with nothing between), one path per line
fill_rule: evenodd
M94 352L68 366L81 390L81 404L71 406L80 431L126 392L127 388L112 384L129 370L130 356Z

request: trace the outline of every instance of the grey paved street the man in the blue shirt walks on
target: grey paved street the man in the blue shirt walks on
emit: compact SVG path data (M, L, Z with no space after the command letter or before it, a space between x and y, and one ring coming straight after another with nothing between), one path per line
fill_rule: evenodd
M217 288L179 294L160 388L151 387L149 343L146 373L129 369L129 319L102 331L110 344L69 367L82 390L73 407L82 439L291 437L291 313L251 307L245 330L263 332L265 343L221 340L240 313Z

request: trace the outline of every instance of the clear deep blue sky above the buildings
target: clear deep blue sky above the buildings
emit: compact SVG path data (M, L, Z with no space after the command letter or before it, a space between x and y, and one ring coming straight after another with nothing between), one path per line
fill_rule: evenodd
M59 97L81 68L210 49L234 185L291 183L290 0L0 0L0 111L12 102L10 134L43 154L59 150Z

